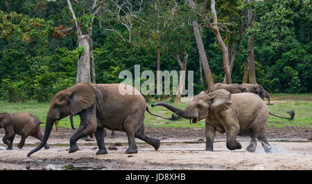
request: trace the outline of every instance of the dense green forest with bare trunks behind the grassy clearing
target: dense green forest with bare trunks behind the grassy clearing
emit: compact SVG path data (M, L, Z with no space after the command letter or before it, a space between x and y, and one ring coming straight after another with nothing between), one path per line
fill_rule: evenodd
M311 93L311 20L309 0L1 0L0 98L49 101L83 81L86 56L96 83L139 64L193 71L195 94L209 89L207 71L214 83Z

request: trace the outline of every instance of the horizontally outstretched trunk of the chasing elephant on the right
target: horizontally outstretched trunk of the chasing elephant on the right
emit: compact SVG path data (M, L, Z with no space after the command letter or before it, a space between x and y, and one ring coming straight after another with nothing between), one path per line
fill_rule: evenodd
M173 113L176 113L178 116L181 116L182 118L186 119L193 119L193 123L198 121L198 112L196 109L193 109L192 107L187 107L187 109L179 109L177 107L172 106L171 104L167 104L165 102L158 102L155 104L152 104L152 107L155 107L157 105L166 107L170 111L173 111Z

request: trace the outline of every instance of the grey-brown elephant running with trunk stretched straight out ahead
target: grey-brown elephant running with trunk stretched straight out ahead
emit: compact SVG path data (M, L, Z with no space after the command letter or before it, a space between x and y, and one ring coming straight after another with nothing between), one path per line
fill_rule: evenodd
M218 89L212 93L200 93L194 96L189 102L189 106L182 110L173 107L171 104L157 102L152 107L161 105L173 111L182 118L192 120L193 123L198 120L206 120L206 150L213 151L213 142L216 131L227 135L227 148L230 150L241 149L241 144L236 140L236 136L251 136L250 145L246 148L248 151L255 151L257 140L266 152L270 152L270 145L266 140L265 126L269 114L268 106L253 93L232 94L225 89ZM291 115L288 120L293 120L295 112L288 111ZM279 118L284 118L277 116Z

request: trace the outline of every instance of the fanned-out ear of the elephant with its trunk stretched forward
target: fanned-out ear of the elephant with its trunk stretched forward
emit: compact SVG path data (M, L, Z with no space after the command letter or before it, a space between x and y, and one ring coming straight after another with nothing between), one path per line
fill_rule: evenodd
M210 111L225 111L229 109L233 103L231 100L231 93L225 89L218 89L209 94L211 98Z

